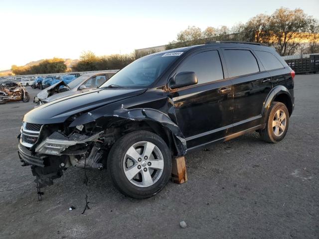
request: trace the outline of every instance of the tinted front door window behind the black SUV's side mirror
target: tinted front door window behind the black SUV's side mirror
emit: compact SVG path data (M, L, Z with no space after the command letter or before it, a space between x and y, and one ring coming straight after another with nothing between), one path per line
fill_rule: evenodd
M224 79L218 51L205 51L186 59L178 72L195 72L198 84Z

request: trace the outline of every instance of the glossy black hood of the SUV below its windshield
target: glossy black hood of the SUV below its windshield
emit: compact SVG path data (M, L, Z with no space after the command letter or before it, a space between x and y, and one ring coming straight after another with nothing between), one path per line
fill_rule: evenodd
M64 122L76 113L134 97L145 91L146 89L96 89L41 105L28 112L23 121L38 124Z

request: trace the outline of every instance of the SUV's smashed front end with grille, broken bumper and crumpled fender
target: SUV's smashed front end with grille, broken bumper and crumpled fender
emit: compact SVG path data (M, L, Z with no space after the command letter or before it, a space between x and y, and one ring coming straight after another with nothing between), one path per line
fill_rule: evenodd
M123 105L109 104L76 113L60 123L23 122L18 146L22 166L31 165L38 188L52 185L54 179L72 166L103 169L113 144L136 130L157 133L165 140L173 156L185 155L186 140L176 124L172 101L170 98L161 101L162 111L124 109ZM40 108L36 110L46 109L44 106ZM28 116L25 119L32 118Z

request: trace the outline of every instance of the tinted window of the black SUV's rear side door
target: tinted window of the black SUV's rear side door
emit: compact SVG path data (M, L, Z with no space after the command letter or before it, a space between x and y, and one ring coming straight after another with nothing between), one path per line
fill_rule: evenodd
M229 77L259 72L257 60L249 50L225 50L224 55Z

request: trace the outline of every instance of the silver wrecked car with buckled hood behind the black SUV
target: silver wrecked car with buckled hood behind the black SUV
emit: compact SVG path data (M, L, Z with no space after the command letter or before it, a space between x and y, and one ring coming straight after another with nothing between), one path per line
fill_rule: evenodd
M74 76L67 76L65 79L62 78L62 81L60 80L39 92L34 97L33 102L37 105L41 105L67 96L93 90L105 83L115 73L116 71L89 73L76 79ZM67 83L68 81L70 82Z

